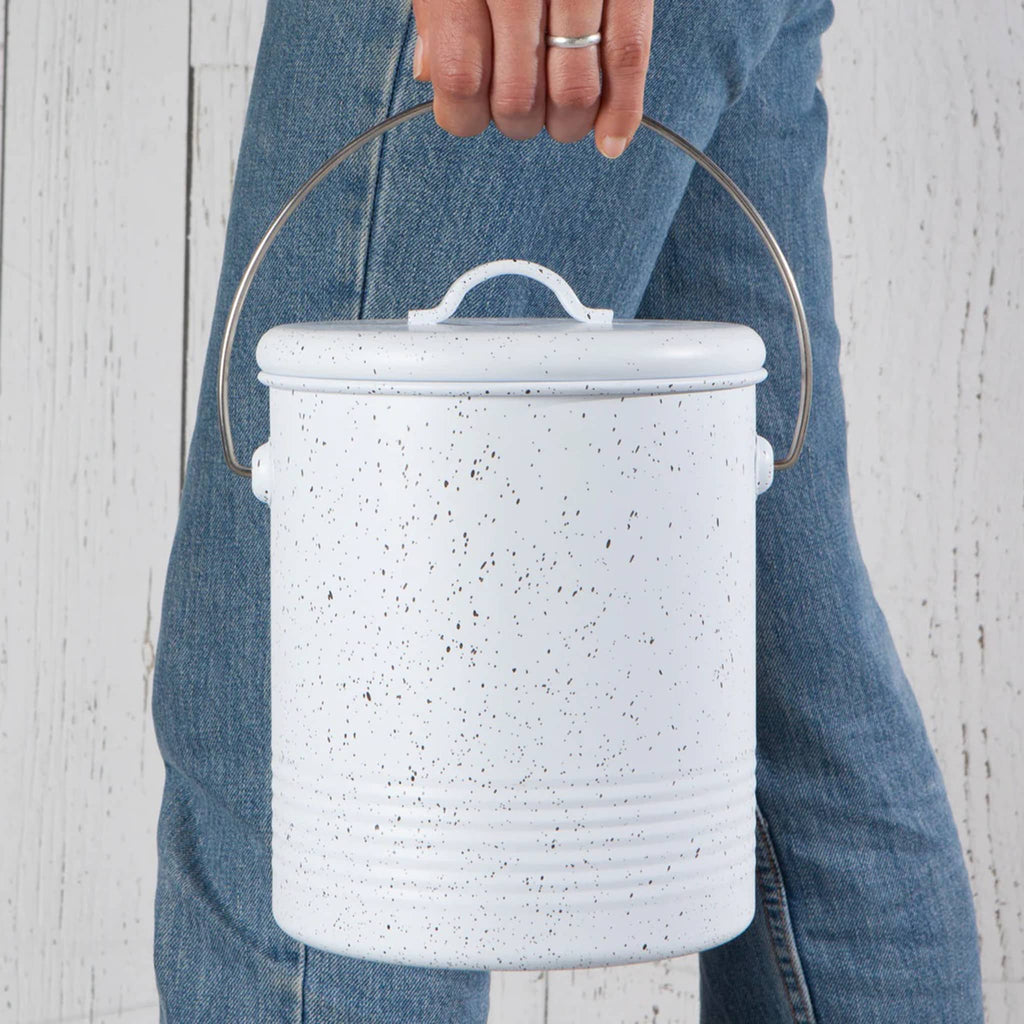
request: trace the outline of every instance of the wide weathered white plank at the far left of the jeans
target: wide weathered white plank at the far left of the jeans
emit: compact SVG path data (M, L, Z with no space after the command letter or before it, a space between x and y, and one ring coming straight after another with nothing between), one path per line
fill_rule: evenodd
M148 697L177 503L187 7L7 11L0 1017L31 1024L154 1000Z

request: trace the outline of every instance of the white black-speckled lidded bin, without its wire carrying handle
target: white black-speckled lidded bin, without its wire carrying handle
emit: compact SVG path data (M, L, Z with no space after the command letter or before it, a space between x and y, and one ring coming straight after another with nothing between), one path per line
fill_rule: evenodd
M447 319L498 272L575 319ZM484 264L260 341L273 912L334 952L657 959L754 912L748 328L610 322Z

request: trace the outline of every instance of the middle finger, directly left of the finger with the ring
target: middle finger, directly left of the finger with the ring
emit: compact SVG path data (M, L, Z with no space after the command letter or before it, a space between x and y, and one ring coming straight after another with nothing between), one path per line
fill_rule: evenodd
M489 0L490 116L509 138L532 138L545 117L544 0Z

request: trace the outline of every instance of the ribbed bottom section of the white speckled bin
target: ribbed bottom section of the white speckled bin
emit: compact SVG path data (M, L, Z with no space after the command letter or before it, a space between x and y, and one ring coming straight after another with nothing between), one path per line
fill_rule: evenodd
M289 935L385 963L544 970L678 956L753 918L745 758L629 785L375 788L302 786L274 766Z

